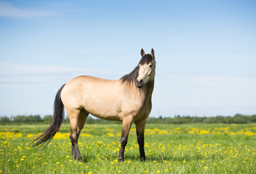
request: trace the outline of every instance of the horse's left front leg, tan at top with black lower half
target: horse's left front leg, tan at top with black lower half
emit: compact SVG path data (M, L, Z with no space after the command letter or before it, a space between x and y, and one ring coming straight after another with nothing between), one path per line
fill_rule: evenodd
M121 147L119 151L119 160L124 161L124 148L127 145L129 130L132 125L132 117L124 117L123 126L121 129Z

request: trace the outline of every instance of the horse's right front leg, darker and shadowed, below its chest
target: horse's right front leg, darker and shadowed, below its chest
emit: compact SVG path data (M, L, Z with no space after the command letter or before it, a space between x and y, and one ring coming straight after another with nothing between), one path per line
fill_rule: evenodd
M137 143L140 147L140 160L145 161L145 151L144 151L144 130L145 130L145 120L140 120L135 122L136 133L137 133Z

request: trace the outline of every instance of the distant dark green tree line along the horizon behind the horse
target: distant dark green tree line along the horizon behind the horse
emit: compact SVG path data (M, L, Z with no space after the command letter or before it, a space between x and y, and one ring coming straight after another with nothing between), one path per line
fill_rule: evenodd
M0 123L51 123L52 115L17 115L12 117L0 117ZM68 123L68 117L65 117L64 122ZM121 122L87 118L87 124L121 124ZM180 116L175 117L148 117L149 124L185 124L185 123L226 123L226 124L242 124L242 123L256 123L256 115L241 115L233 116L215 116L215 117L197 117L197 116Z

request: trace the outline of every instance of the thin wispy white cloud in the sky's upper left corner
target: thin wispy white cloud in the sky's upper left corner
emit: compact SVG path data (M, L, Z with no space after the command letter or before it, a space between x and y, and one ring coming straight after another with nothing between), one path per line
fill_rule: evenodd
M28 10L14 7L9 2L0 1L0 16L2 17L48 17L56 14L44 10Z

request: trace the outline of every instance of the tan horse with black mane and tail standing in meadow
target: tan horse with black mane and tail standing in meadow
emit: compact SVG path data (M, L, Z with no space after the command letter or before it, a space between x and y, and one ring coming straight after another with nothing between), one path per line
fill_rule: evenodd
M140 51L141 59L132 72L119 80L106 80L82 75L65 83L55 96L54 114L49 128L33 139L33 146L47 146L64 119L64 107L71 124L72 155L83 161L78 147L81 129L89 114L104 119L122 121L119 160L124 161L129 130L135 123L140 160L145 161L144 130L151 112L151 96L156 73L156 60L151 54Z

